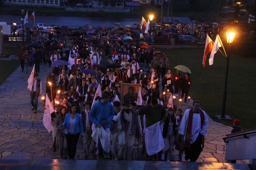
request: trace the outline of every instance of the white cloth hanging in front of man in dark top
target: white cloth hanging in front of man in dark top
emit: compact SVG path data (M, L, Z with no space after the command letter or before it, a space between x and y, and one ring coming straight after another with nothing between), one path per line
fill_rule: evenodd
M149 156L160 152L165 147L160 121L145 129L145 145Z

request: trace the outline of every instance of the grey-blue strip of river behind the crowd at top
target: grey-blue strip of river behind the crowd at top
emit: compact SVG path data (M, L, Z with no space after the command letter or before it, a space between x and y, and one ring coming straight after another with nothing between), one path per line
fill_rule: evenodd
M10 23L21 23L22 16L11 16L11 15L0 15L0 22L6 22L8 25ZM44 23L49 26L68 26L69 28L79 28L84 25L91 25L94 28L102 26L104 28L114 27L114 23L120 23L120 27L125 27L125 25L130 25L136 28L135 23L141 22L141 18L90 18L90 17L51 17L51 16L36 16L35 23ZM29 18L29 22L24 25L25 27L32 28L32 19Z

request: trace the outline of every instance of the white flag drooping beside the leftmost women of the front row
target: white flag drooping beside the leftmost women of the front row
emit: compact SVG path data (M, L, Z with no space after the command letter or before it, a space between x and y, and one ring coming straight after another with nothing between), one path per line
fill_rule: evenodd
M53 113L53 112L54 112L53 105L46 93L45 94L45 108L44 108L44 114L43 114L43 125L49 133L52 131L51 113Z

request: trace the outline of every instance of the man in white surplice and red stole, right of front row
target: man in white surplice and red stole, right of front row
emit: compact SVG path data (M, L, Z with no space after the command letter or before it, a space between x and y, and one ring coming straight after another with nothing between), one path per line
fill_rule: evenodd
M185 159L195 162L204 147L204 137L207 136L208 129L207 114L200 110L200 102L195 100L193 108L187 109L182 117L179 134L180 146L184 140ZM180 148L181 150L182 148Z

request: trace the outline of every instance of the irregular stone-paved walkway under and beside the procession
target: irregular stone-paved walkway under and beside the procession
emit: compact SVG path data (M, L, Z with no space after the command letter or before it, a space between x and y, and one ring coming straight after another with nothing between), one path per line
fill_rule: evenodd
M15 59L15 57L14 57ZM29 73L32 68L29 67ZM47 65L40 66L39 79L45 91L46 77L51 72ZM0 85L0 159L59 159L59 153L52 151L52 134L48 133L42 123L44 107L38 99L38 113L31 111L30 91L27 89L29 73L21 73L18 67L6 81ZM181 105L184 111L192 106L192 100ZM214 122L209 117L208 137L205 148L197 162L225 163L225 143L223 137L232 127ZM82 141L77 147L77 159L83 159ZM173 152L178 159L178 151ZM144 155L140 159L147 160ZM185 161L185 160L184 160ZM237 161L248 164L249 161Z

